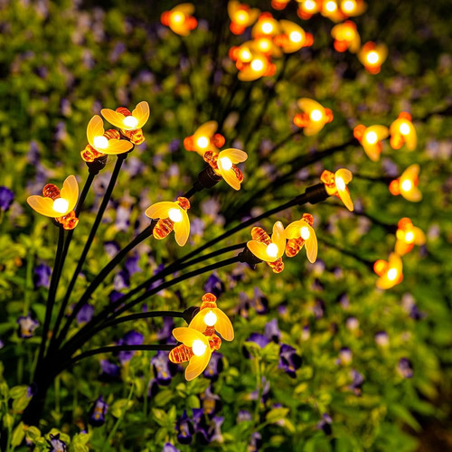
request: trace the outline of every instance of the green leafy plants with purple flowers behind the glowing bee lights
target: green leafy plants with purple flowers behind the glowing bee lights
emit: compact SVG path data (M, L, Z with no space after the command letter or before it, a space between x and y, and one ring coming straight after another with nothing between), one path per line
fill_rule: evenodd
M159 24L161 12L174 2L0 3L0 185L14 192L12 206L0 212L0 339L4 345L0 413L5 428L13 429L20 420L12 399L24 394L19 390L13 394L11 388L31 382L40 341L41 329L30 339L20 338L16 320L31 311L42 325L47 289L36 287L35 268L52 266L57 235L50 221L28 208L26 197L39 193L48 181L61 183L69 174L76 174L82 184L87 169L80 151L86 145L89 118L100 108L130 108L146 100L151 108L144 130L146 143L127 158L73 292L74 301L108 263L106 242L115 240L124 246L146 226L148 205L174 198L191 186L202 169L202 159L186 152L182 140L210 119L221 123L226 146L238 146L250 158L240 193L221 183L196 195L190 212L197 227L193 227L189 249L250 213L301 193L316 182L323 168L344 165L357 175L378 177L400 174L417 162L422 168L419 186L424 199L410 203L393 197L386 184L355 177L351 191L358 205L356 214L331 199L304 211L283 212L278 219L285 224L302 212L315 215L319 260L310 265L302 252L297 259L285 259L286 269L280 275L262 265L256 271L238 266L218 272L224 285L219 304L231 316L236 339L221 348L224 368L216 381L199 378L187 383L179 371L169 386L147 397L148 382L154 378L149 364L153 353L136 353L121 367L120 378L108 382L99 380L99 360L86 360L56 381L41 433L34 432L32 438L38 449L47 447L39 437L52 428L68 434L74 450L170 450L167 443L180 450L255 450L259 437L256 448L261 450L452 448L447 432L451 427L452 122L447 111L444 114L452 103L450 7L447 1L369 3L368 11L355 22L363 42L376 40L389 46L380 74L367 74L353 54L334 52L333 23L321 16L301 21L292 2L286 10L273 13L302 24L314 34L314 46L276 61L277 74L256 82L238 82L228 59L231 45L244 38L229 31L226 2L197 2L199 26L186 38ZM267 1L254 4L271 11ZM283 76L278 77L283 66ZM230 102L231 93L235 95ZM334 121L316 137L294 134L277 146L294 131L291 120L300 97L332 108ZM411 112L418 131L419 144L413 153L393 151L387 143L381 162L375 164L361 147L347 146L344 152L306 168L293 163L299 155L348 141L358 123L389 126L401 110ZM274 182L294 168L297 171L284 184ZM57 299L64 295L111 170L108 164L89 194L88 212L82 213L75 231ZM426 231L427 245L403 259L403 282L382 292L375 288L376 276L356 257L386 259L394 236L381 223L396 224L403 216ZM271 224L270 220L262 223L268 230ZM228 244L249 237L250 231L243 231ZM161 262L185 252L173 238L147 240L137 250L140 271L131 276L130 286L146 279ZM118 276L96 291L92 306L109 303L114 278ZM159 293L148 306L197 306L208 278L204 275ZM268 309L262 312L259 297L264 296ZM413 315L410 296L421 315ZM358 325L347 323L349 317L356 318ZM247 343L250 334L264 334L272 319L278 320L279 343L291 345L302 357L296 378L278 368L277 344L260 349ZM303 329L306 325L309 334ZM99 334L89 348L112 344L131 328L152 343L161 325L146 321L121 325ZM388 334L388 346L375 343L374 334L379 331ZM353 359L339 364L344 347L352 351ZM244 350L250 357L245 358L249 354ZM410 359L412 378L398 372L400 358ZM114 357L110 361L118 363ZM363 375L361 394L350 388L353 370ZM222 435L205 444L198 433L191 446L178 444L175 422L184 410L189 418L193 409L202 407L207 412L203 399L209 387L221 400L215 416L224 418ZM259 397L253 398L253 391L266 393L265 401L255 400ZM89 409L100 395L109 405L106 422L92 428L87 423ZM239 422L240 410L249 411L250 419ZM329 424L325 413L331 417L331 431L325 428ZM212 416L204 420L218 423ZM319 422L324 428L319 428ZM21 439L21 428L15 430L16 439ZM77 436L80 431L88 435ZM26 447L23 443L16 449Z

